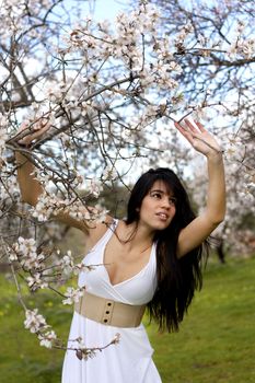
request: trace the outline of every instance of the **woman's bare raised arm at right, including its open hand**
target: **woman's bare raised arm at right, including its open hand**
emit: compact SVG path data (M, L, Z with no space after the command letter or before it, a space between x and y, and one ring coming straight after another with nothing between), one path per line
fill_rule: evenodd
M208 190L205 210L184 228L178 237L177 255L181 257L200 245L223 221L225 214L225 181L222 151L213 136L201 124L185 119L175 127L192 147L207 158Z

